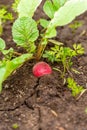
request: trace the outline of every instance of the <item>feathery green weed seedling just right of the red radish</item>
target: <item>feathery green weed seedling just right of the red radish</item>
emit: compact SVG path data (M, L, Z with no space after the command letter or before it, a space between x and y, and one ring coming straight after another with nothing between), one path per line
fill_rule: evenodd
M81 44L74 44L73 49L61 45L55 45L54 47L51 47L50 50L45 51L43 57L47 58L48 61L51 61L52 63L61 62L64 67L62 76L64 76L66 70L69 70L72 66L72 58L83 53L84 48Z

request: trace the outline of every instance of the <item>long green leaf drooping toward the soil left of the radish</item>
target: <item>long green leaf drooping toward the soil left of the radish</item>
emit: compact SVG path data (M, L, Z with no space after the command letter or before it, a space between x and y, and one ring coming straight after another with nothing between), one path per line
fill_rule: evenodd
M3 61L0 64L0 91L2 90L2 83L12 74L14 70L19 68L26 60L30 59L32 54L23 54L11 61Z

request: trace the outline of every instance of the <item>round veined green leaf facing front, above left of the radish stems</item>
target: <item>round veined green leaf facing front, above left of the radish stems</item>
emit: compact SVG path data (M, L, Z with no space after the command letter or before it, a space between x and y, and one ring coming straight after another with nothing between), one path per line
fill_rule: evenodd
M39 35L36 22L29 17L18 18L12 27L14 42L22 47L34 42Z

